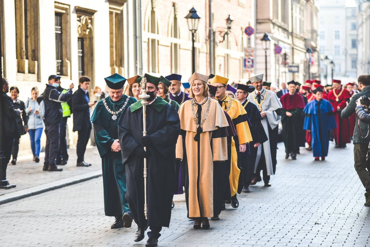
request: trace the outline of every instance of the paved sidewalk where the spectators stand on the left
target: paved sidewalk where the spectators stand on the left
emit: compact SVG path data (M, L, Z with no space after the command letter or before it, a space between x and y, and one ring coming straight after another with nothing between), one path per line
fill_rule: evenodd
M48 183L61 180L73 181L75 178L86 175L87 173L101 173L101 159L98 150L94 146L88 146L85 153L85 160L91 163L90 167L76 166L76 149L68 149L69 160L67 165L59 166L62 172L43 171L45 153L40 153L40 162L32 161L31 155L19 156L16 165L9 163L7 168L7 179L17 187L9 190L0 190L0 201L9 193L20 192L21 190L32 190L38 186L43 187ZM21 192L20 192L21 193Z

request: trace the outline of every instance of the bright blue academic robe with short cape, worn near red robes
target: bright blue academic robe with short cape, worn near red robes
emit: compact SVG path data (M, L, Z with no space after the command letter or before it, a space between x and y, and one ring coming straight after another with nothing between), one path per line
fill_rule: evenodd
M303 129L312 133L314 157L325 157L329 149L329 131L337 128L333 107L326 99L310 101L303 112L306 114Z

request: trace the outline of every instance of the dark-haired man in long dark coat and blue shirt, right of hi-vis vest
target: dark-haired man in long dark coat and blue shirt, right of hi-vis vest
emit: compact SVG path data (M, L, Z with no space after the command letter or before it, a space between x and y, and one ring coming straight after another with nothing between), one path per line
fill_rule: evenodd
M90 138L91 121L90 121L90 107L95 102L90 102L88 88L90 85L90 78L81 76L79 79L80 85L72 97L73 104L73 132L78 131L77 140L77 166L91 166L84 160L87 142Z

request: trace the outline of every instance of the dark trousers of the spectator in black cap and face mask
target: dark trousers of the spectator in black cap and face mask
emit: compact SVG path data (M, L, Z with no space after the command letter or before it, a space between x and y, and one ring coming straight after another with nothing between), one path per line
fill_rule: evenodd
M46 146L44 166L55 167L58 151L59 151L59 124L45 125Z

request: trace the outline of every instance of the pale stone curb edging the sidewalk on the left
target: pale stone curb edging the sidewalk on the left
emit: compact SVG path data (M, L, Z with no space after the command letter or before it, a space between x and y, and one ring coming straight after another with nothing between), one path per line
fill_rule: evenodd
M43 185L38 185L24 190L4 194L3 196L0 196L0 205L4 203L14 202L16 200L23 199L29 196L35 196L37 194L48 192L50 190L55 190L65 186L74 185L76 183L81 183L100 176L102 176L102 172L101 170L97 170L94 172L85 173L83 175L68 177L66 179L61 179Z

